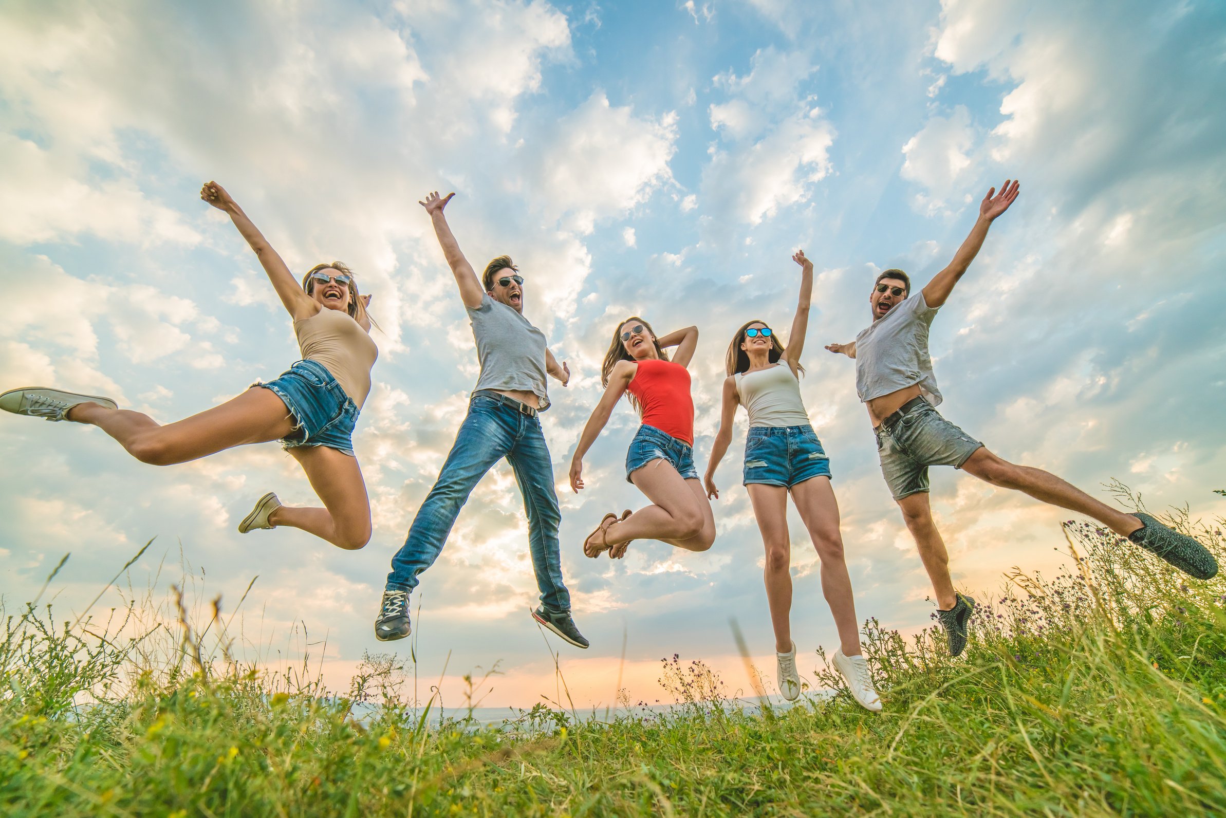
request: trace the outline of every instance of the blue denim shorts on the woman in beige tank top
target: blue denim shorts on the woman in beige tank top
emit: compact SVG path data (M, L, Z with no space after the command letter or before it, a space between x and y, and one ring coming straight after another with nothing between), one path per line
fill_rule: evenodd
M282 448L327 446L353 456L358 406L322 364L299 361L276 380L251 386L272 391L293 416L293 432L281 439Z

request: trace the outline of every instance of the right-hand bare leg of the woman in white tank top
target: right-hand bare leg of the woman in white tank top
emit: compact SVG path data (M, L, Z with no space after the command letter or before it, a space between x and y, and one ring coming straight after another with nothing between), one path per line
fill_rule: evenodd
M792 487L792 502L809 530L813 547L821 559L821 594L839 629L845 656L861 651L859 628L856 622L856 597L843 557L842 533L839 531L839 500L829 477L814 477Z

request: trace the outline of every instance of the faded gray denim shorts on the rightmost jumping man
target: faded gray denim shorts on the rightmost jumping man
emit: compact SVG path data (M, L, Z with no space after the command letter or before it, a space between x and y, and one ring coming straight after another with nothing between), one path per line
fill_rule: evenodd
M928 466L961 468L983 444L924 401L891 427L877 427L877 454L894 499L928 491Z

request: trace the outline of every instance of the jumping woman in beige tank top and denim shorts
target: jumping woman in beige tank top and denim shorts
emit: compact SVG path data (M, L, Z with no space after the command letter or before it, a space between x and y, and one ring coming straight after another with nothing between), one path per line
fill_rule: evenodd
M360 548L370 540L370 503L349 438L370 391L370 367L378 356L365 309L370 297L358 294L353 275L340 262L314 267L299 286L221 185L207 183L200 197L226 212L255 250L294 319L303 361L276 380L253 384L221 406L166 426L141 412L121 410L109 397L49 388L10 390L0 395L0 408L97 426L134 457L156 466L196 460L245 443L281 440L306 472L324 508L282 505L270 492L239 524L239 531L286 525L340 548Z

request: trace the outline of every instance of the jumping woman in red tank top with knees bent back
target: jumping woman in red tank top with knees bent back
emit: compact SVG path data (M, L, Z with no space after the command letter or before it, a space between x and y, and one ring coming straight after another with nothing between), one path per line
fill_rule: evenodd
M601 367L604 395L592 411L570 461L570 488L584 488L584 455L608 423L618 400L626 395L642 419L625 457L626 481L639 487L651 505L619 518L606 514L584 541L584 553L625 556L631 540L662 540L687 551L706 551L715 542L711 502L694 468L694 400L685 367L698 346L698 327L688 326L657 338L641 318L629 318L613 332ZM677 347L672 361L666 347Z

